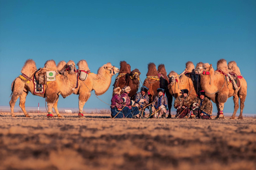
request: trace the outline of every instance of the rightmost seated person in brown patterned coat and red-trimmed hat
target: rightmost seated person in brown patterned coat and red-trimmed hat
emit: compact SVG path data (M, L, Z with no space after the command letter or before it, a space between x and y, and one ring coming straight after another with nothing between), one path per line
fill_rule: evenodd
M204 90L198 92L198 97L192 103L193 106L191 108L194 113L191 113L191 118L212 119L213 104L205 97Z

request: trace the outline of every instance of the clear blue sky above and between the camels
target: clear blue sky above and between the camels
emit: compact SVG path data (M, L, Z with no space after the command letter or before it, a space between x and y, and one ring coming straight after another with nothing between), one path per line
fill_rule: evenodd
M48 59L77 63L92 72L107 62L127 61L142 81L147 63L164 63L178 73L194 64L235 60L248 83L244 113L255 113L256 1L0 1L0 105L9 105L11 82L26 59L37 67ZM112 84L115 76L112 77ZM100 96L110 103L113 86ZM44 106L27 96L26 106ZM16 106L19 105L19 100ZM78 95L59 100L78 108ZM91 96L84 108L108 108ZM213 106L216 111L216 106ZM229 98L224 112L233 112ZM238 110L239 112L240 110Z

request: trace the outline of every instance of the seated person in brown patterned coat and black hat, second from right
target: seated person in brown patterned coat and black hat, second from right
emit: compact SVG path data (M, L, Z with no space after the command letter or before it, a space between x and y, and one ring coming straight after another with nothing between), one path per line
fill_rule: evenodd
M188 118L190 113L190 105L191 105L191 98L187 95L188 89L181 90L181 96L177 97L174 102L173 107L177 109L177 114L175 115L176 118L182 119L184 117Z

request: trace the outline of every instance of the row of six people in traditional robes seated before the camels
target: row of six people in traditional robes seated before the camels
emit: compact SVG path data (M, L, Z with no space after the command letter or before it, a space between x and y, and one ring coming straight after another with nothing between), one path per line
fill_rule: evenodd
M141 118L140 114L142 108L151 107L150 118L166 118L167 98L164 96L164 89L157 89L158 95L153 102L149 103L148 88L146 86L141 87L141 91L138 92L134 100L129 97L131 88L125 86L123 89L117 87L113 90L113 97L111 99L111 117L112 118ZM121 94L121 92L123 93ZM174 102L174 108L177 109L176 118L198 118L198 119L211 119L212 115L212 102L205 97L205 92L200 91L198 98L194 101L188 96L188 89L181 90L181 96L179 96ZM171 118L171 114L168 114L167 118Z

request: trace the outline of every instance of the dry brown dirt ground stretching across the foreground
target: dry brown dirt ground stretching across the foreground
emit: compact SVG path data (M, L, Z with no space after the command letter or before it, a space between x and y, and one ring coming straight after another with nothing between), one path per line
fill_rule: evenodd
M256 119L0 114L0 169L256 169Z

